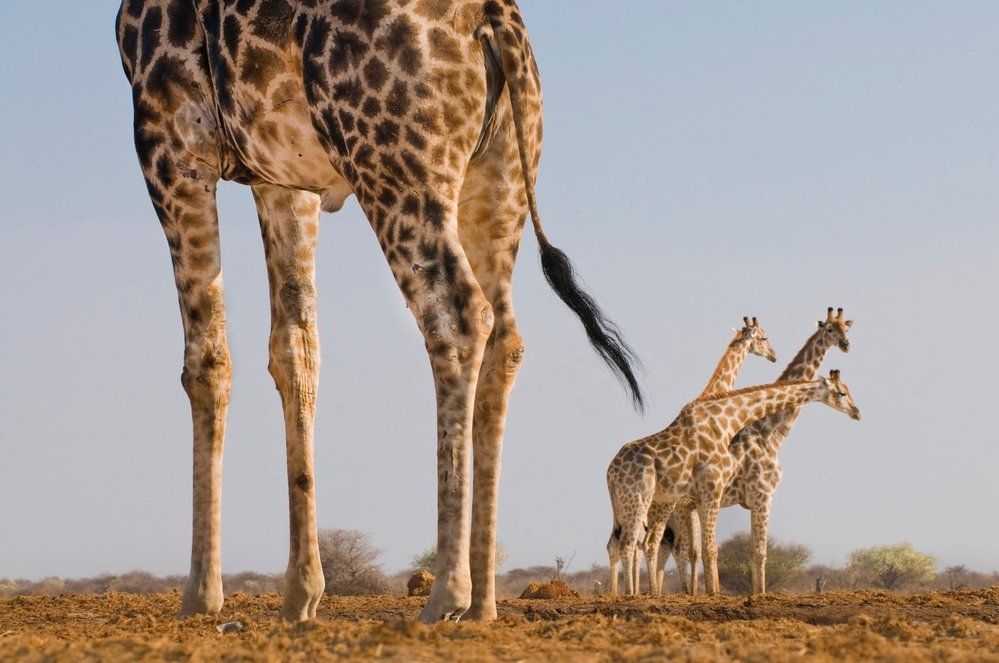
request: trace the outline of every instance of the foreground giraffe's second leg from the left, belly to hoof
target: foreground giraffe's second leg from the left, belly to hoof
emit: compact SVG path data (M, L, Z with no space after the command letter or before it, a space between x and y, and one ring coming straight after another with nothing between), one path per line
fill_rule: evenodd
M325 582L319 562L313 469L313 422L319 382L315 251L319 196L261 184L253 187L270 282L268 368L284 409L291 548L282 617L316 616Z

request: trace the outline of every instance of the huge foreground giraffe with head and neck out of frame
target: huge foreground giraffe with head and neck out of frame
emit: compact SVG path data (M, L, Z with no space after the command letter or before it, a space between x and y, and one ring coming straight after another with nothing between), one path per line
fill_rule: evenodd
M117 37L184 323L194 534L181 615L223 600L231 378L215 189L226 179L253 189L270 281L291 523L282 616L314 617L324 586L315 247L320 210L353 194L423 334L437 395L437 582L420 618L494 619L499 454L524 354L510 279L528 212L549 284L641 407L633 354L541 228L541 88L515 3L123 0Z

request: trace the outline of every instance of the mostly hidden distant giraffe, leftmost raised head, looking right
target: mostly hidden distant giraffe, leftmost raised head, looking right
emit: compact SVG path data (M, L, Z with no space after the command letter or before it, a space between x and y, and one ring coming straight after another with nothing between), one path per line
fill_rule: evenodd
M711 378L708 380L708 384L704 387L704 390L697 396L697 398L707 398L709 396L715 396L717 394L722 394L732 390L735 385L735 380L739 376L739 371L742 369L742 364L746 360L746 355L754 354L759 357L765 357L771 362L777 361L777 354L774 352L773 346L770 345L770 339L767 338L767 333L763 331L763 327L760 326L759 321L756 318L750 320L748 317L742 318L743 326L740 330L735 330L735 337L729 341L728 346L725 348L725 352L722 354L721 359L718 360L718 365L715 367L714 372L711 374ZM696 400L696 399L695 399ZM629 442L629 444L638 444L641 442ZM649 522L649 534L646 537L646 559L648 559L649 545L659 546L662 537L666 533L666 519L659 513L660 506L653 504L649 511L648 522ZM684 536L687 532L687 528L674 527L671 530L671 534L679 534L680 537ZM612 574L617 574L617 563L620 558L620 541L617 537L619 531L614 529L611 532L610 539L607 541L607 554L610 557L610 568ZM653 541L654 539L654 541ZM670 548L673 546L685 546L685 541L671 541ZM660 564L658 576L652 574L650 569L649 584L650 587L662 585L662 566L665 564L665 559L663 559L662 564ZM635 580L637 585L638 580ZM611 583L612 586L615 585L614 582ZM652 589L653 594L658 594L660 590Z

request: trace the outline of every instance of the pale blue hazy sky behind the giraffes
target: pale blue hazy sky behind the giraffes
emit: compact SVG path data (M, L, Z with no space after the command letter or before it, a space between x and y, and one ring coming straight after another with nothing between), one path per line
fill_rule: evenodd
M552 240L644 360L634 414L525 237L527 357L510 405L508 566L606 562L618 447L707 380L743 315L779 366L827 305L863 421L810 406L771 533L842 562L909 541L999 568L999 3L521 0L545 88ZM114 0L8 0L0 22L0 577L183 573L190 419L166 242L131 144ZM249 191L221 187L234 361L223 564L287 559L282 420ZM423 342L356 204L324 216L319 518L389 569L434 541ZM728 509L721 534L748 528Z

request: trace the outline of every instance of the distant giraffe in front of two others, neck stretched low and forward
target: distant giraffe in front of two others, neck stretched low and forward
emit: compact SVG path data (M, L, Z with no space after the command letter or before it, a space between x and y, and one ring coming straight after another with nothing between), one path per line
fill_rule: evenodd
M787 408L821 402L860 419L850 391L839 371L815 381L775 382L749 387L688 403L664 430L637 444L625 445L607 468L607 487L614 511L614 528L621 545L625 581L636 594L637 549L654 503L669 505L668 518L678 503L692 500L702 527L705 584L718 591L718 548L715 525L722 494L735 472L729 442L750 423ZM650 548L649 568L657 568L658 546ZM657 589L653 583L653 591ZM617 573L611 572L611 592Z

